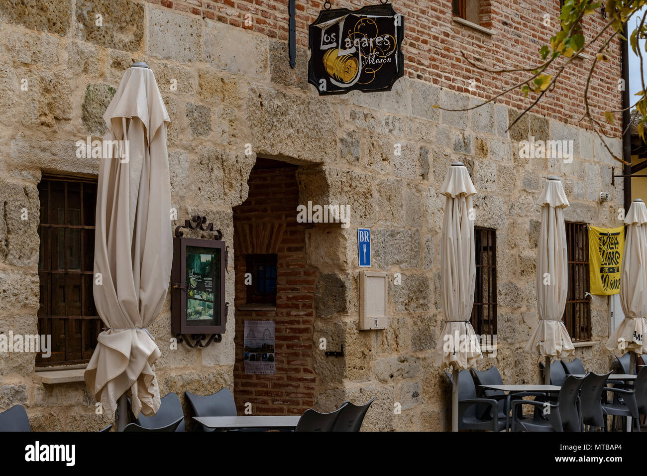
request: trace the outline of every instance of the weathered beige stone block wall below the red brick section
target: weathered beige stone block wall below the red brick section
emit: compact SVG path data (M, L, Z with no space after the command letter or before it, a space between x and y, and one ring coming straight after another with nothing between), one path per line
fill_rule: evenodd
M171 192L179 220L204 214L231 244L232 207L247 198L256 157L299 167L300 203L351 207L349 229L313 227L305 235L307 265L317 273L313 370L322 383L316 409L377 396L365 429L446 429L448 383L443 369L433 364L443 320L438 256L444 200L437 190L457 160L468 166L479 192L476 225L495 228L498 243L498 355L478 367L496 364L507 382L538 381L536 359L523 346L537 321L539 213L534 201L543 181L549 175L562 179L571 201L568 220L616 226L615 210L622 206L622 181L611 186L611 166L617 163L594 133L565 123L564 112L575 114L575 108L553 104L542 109L547 116L525 115L510 131L519 111L505 103L469 113L433 108L435 103L466 108L477 99L452 82L454 60L439 66L424 59L436 56L441 38L456 34L455 27L426 27L424 19L417 28L430 28L430 46L411 52L417 56L408 60L408 75L393 91L322 98L307 85L305 49L298 51L296 69L289 68L282 27L276 39L176 11L169 4L30 0L21 5L36 10L17 3L0 6L1 330L37 332L36 185L41 173L98 173L98 159L77 159L74 142L87 135L100 139L105 132L102 114L120 78L133 60L144 60L171 117ZM417 7L406 5L407 16L414 18ZM509 5L503 9L509 11ZM104 14L100 28L94 26L95 12ZM492 21L501 20L493 15ZM453 47L447 54L456 52ZM432 78L411 77L417 71L412 61L426 62ZM609 78L615 77L619 62L612 61L609 68ZM27 89L21 89L25 84ZM567 96L560 89L554 92L558 102ZM613 91L598 96L619 104ZM520 157L519 141L531 136L573 141L573 163ZM394 155L396 144L400 155ZM620 141L612 140L611 148L619 154ZM600 203L600 191L609 192L611 201ZM21 220L22 209L29 220ZM391 280L389 285L386 330L358 330L357 227L371 227L373 267L402 273L402 284ZM226 277L229 302L234 302L234 260ZM608 335L606 299L593 296L591 310L593 344L578 348L577 356L587 369L601 371L611 365L602 345ZM161 394L173 391L183 398L185 390L208 394L221 387L235 393L237 319L230 312L221 343L171 350L167 300L150 328L162 351L156 365ZM323 356L320 337L332 350L343 344L345 356ZM38 430L107 424L105 416L94 413L83 383L44 385L34 370L34 354L0 355L0 409L25 405ZM393 413L395 402L402 405L402 414Z

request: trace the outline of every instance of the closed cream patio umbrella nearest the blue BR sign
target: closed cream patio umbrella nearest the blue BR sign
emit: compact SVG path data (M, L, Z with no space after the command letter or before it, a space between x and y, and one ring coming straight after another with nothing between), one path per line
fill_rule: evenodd
M458 431L458 374L482 357L477 335L470 324L476 284L472 196L476 188L467 168L452 164L441 194L446 196L441 242L441 303L445 324L436 346L439 367L452 367L452 431Z

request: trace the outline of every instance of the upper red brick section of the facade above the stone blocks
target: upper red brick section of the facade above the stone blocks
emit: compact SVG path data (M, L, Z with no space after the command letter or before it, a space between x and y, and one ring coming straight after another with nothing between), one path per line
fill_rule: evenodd
M146 0L163 8L186 12L206 19L213 19L235 27L254 30L270 38L288 39L287 0ZM355 10L378 1L358 2L333 0L332 8ZM481 23L492 28L494 36L452 21L452 0L395 0L395 10L404 15L404 60L405 74L455 91L470 93L480 98L491 98L508 89L520 79L519 73L494 75L470 66L466 58L488 69L531 67L540 63L538 50L549 43L551 36L560 30L559 0L481 0ZM308 25L323 9L323 1L296 1L296 42L299 47L308 47ZM549 15L549 25L544 16ZM247 24L246 24L247 20ZM584 19L584 36L592 40L608 20L600 12ZM602 45L608 34L597 40ZM589 50L593 56L593 51ZM602 119L600 110L620 109L618 80L620 73L620 43L611 42L609 63L598 63L597 73L591 82L589 98L595 117ZM286 58L287 61L287 58ZM563 64L563 60L558 65ZM582 91L591 66L591 59L575 59L551 93L542 98L534 109L536 112L568 124L578 124L584 113ZM554 73L554 71L550 71ZM307 74L307 73L306 73ZM468 89L476 81L476 91ZM498 102L518 109L525 109L536 96L524 98L518 90L507 93ZM617 115L620 124L620 115ZM588 124L580 123L587 128ZM619 126L607 126L608 133L620 135Z

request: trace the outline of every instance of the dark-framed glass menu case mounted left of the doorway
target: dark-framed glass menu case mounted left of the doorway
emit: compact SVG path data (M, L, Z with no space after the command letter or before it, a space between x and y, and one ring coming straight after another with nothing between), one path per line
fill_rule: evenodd
M173 238L171 332L223 334L226 247L221 240Z

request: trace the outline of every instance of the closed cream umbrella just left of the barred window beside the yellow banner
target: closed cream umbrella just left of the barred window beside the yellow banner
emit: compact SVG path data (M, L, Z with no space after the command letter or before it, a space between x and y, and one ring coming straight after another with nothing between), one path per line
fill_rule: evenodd
M551 381L551 358L573 355L575 347L562 315L568 292L568 257L564 209L568 199L558 177L548 177L537 201L542 226L537 245L537 313L539 323L526 346L533 357L544 356L544 381Z

